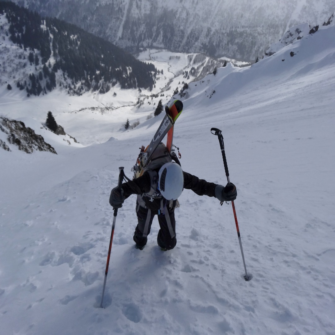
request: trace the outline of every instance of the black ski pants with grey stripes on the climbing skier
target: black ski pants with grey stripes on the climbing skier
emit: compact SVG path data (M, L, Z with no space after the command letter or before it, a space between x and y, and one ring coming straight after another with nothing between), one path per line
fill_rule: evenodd
M177 244L176 239L176 220L175 210L172 208L164 208L164 212L157 210L149 210L137 204L138 224L135 228L134 241L139 247L144 247L148 241L147 236L150 233L152 220L157 215L160 229L157 235L158 246L162 249L173 249Z

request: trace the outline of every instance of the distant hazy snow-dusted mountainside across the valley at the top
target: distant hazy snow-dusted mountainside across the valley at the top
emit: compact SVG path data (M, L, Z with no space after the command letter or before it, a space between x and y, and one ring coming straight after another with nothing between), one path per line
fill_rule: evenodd
M15 0L135 52L155 47L255 60L297 24L322 24L335 0Z

